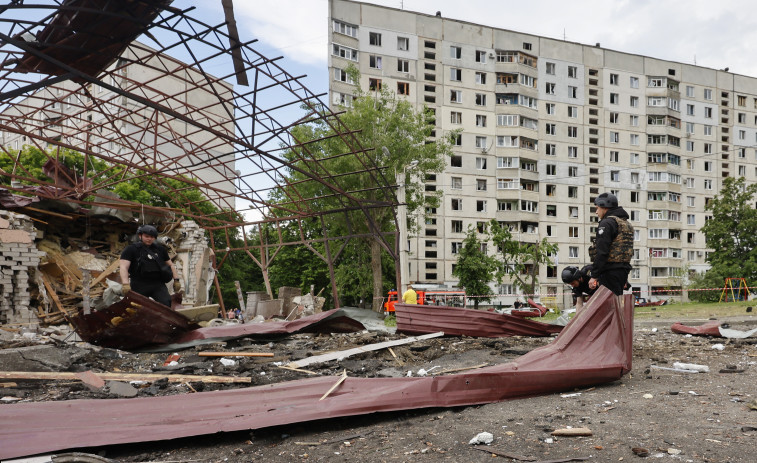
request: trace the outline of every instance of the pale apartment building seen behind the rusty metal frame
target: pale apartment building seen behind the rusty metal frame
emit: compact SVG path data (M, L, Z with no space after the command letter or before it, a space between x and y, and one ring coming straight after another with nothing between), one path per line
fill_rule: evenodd
M135 98L72 80L43 87L0 108L0 144L18 151L24 145L44 149L60 143L113 162L185 175L206 185L203 193L219 207L235 208L234 147L200 128L233 136L231 84L138 42L100 78ZM198 124L164 114L139 98Z

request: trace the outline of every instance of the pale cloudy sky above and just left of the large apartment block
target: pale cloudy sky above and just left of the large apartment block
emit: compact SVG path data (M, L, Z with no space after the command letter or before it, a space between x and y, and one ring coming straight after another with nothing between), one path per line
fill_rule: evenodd
M216 7L221 0L201 0ZM757 14L750 0L371 0L364 3L435 14L603 48L757 77ZM237 0L243 40L283 55L291 74L328 90L326 0ZM215 9L215 8L214 8ZM219 21L222 21L220 19Z

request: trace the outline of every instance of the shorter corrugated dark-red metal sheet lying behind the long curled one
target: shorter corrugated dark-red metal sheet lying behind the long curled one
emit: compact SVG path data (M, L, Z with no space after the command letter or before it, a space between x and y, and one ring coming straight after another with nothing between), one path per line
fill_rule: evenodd
M397 331L410 334L443 331L451 336L549 336L562 331L562 326L524 320L484 310L417 304L394 305Z

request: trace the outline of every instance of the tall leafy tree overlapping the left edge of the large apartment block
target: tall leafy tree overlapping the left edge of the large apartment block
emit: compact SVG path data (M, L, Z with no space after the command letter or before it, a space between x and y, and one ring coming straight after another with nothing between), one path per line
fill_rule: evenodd
M360 76L354 67L348 69L348 73L355 82L360 81ZM376 177L369 172L364 172L365 167L360 165L357 156L343 155L343 153L351 152L353 148L345 146L341 137L334 136L335 124L324 115L325 111L318 111L310 120L292 129L294 138L301 145L306 146L308 152L303 151L305 148L297 147L285 153L285 157L304 170L310 169L305 161L300 161L301 158L307 159L314 156L323 159L321 165L328 170L329 174L335 176L334 178L339 179L344 190L354 192L356 197L368 203L381 200ZM422 216L422 214L416 214L415 211L437 207L441 192L426 192L422 184L411 182L413 170L423 174L442 172L445 158L452 154L452 141L457 136L457 132L432 140L431 131L435 125L433 113L426 109L415 111L410 102L398 98L387 88L370 92L358 89L352 99L351 107L347 108L339 118L349 130L356 132L355 136L360 146L367 150L366 155L371 158L371 164L383 168L383 175L389 183L393 184L395 177L404 173L405 178L401 181L406 186L405 198L399 198L399 200L407 203L408 227L410 230L415 230L417 228L415 220L418 216ZM411 163L414 164L413 169L408 168ZM357 172L362 173L355 175L354 173ZM349 173L353 174L339 175ZM301 172L292 169L287 180L290 185L296 185L298 191L304 192L302 196L319 197L319 202L313 203L314 207L319 207L322 211L340 207L341 198L335 197L319 182L309 181ZM310 191L307 190L308 188ZM290 197L296 196L290 189L282 188L271 199L285 203L291 201ZM367 213L370 221L375 223L382 232L396 230L394 214L390 209L370 208ZM330 216L326 224L329 235L369 236L368 221L362 214L362 211L355 211L340 216ZM384 265L383 261L386 260L387 254L382 252L381 243L377 238L355 238L355 240L363 243L370 260L366 262L363 258L345 259L343 256L339 260L337 273L346 275L352 272L355 275L362 275L366 269L369 269L374 309L380 310L378 301L387 289L384 283L384 272L394 266ZM356 251L359 247L355 245L352 249ZM363 257L357 251L352 256ZM343 278L341 282L346 283L347 280L350 279ZM352 280L350 283L356 281ZM362 277L359 278L359 282L367 283ZM393 285L394 282L389 286ZM340 288L340 293L345 289Z

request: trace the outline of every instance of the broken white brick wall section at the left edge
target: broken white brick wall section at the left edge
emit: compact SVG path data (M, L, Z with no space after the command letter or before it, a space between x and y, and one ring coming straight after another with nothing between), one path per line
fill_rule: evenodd
M0 211L0 323L37 325L30 276L45 255L34 244L38 230L23 214Z

